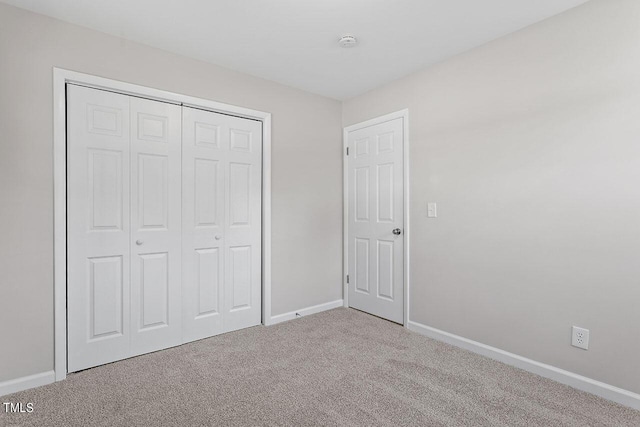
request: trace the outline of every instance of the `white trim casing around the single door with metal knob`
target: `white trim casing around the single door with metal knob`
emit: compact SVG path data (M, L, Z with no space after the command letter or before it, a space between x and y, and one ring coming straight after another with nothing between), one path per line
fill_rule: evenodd
M342 173L343 173L343 214L342 214L342 241L343 241L343 260L342 260L342 280L343 290L342 298L344 306L349 307L349 284L347 283L347 275L349 274L349 157L347 156L347 147L349 146L349 133L370 126L379 125L391 120L402 119L402 162L403 162L403 208L404 208L404 247L403 247L403 325L407 327L409 324L409 109L396 111L376 117L364 122L347 126L342 134Z

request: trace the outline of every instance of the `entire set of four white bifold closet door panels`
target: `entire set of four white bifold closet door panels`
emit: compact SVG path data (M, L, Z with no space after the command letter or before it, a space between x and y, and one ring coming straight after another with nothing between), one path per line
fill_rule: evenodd
M68 371L259 324L260 122L75 85L67 117Z

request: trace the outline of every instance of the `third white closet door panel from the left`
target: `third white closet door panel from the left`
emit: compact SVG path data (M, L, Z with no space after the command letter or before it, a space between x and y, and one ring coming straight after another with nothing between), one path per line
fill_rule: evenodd
M224 178L220 114L183 107L182 282L184 339L219 334L224 298Z

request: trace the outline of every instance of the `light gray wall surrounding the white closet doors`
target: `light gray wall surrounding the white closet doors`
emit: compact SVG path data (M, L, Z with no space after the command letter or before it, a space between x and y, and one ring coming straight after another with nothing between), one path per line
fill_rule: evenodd
M52 68L272 113L272 314L342 298L338 101L0 4L0 381L53 369Z

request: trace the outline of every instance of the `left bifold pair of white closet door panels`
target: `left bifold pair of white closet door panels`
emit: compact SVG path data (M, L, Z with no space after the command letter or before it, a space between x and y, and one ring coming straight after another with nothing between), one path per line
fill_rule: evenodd
M182 342L180 106L67 87L68 370Z

